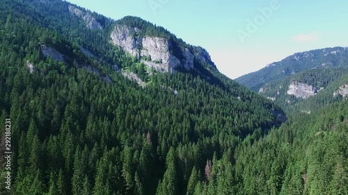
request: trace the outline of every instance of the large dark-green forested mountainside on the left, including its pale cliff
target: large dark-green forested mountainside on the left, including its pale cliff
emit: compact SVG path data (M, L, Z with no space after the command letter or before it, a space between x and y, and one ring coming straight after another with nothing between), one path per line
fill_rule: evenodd
M204 49L137 17L59 0L4 0L0 10L0 120L11 119L13 146L3 194L185 194L209 180L214 154L232 157L284 121ZM119 40L118 25L138 34ZM148 37L164 50L141 51ZM141 44L127 51L128 40Z

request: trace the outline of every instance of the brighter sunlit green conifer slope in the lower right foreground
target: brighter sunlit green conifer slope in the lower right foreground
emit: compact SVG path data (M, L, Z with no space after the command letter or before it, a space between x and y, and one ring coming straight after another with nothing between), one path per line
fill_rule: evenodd
M212 164L189 194L347 194L348 101L294 115ZM189 187L199 179L193 169Z

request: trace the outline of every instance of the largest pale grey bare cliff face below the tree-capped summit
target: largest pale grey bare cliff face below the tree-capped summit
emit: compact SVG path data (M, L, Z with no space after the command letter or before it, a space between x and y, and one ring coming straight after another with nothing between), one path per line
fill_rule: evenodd
M111 33L112 43L120 46L132 56L141 59L148 67L152 67L161 72L175 72L175 69L184 68L191 70L194 68L195 58L202 62L212 65L205 49L192 46L191 49L180 46L175 56L173 52L173 42L164 37L152 37L139 35L141 29L117 24Z

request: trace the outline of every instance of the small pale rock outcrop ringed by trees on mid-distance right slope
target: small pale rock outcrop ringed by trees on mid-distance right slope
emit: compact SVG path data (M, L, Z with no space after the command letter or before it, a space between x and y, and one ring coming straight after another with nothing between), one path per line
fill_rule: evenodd
M317 94L317 88L307 85L306 83L292 82L289 85L289 90L287 94L294 95L296 98L308 99L310 96Z

